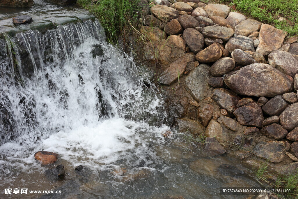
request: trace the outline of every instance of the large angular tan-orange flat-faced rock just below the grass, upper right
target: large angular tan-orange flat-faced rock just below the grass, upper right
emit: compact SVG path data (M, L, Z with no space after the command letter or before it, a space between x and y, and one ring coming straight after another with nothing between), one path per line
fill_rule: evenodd
M256 52L262 55L268 55L273 50L278 50L283 44L287 32L278 30L268 24L262 24L259 34L260 44Z

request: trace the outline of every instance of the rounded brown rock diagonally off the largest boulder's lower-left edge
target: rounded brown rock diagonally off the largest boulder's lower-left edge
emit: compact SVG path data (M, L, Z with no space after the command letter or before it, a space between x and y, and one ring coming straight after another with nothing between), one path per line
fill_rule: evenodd
M223 88L214 89L212 91L211 98L216 104L218 104L219 107L226 109L229 113L234 112L234 110L237 108L236 105L240 100L235 93Z

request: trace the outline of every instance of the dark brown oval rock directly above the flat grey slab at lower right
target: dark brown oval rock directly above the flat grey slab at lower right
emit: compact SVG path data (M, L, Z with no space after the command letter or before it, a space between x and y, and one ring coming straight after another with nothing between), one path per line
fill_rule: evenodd
M288 134L288 131L284 127L276 123L263 127L260 132L268 138L275 140L283 139Z

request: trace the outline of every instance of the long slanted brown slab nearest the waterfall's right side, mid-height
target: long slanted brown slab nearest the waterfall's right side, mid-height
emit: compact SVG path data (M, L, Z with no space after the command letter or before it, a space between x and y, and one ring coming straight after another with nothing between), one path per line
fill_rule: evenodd
M184 56L173 61L169 67L159 77L160 84L171 85L182 76L186 65L190 61L195 61L193 53L187 53Z

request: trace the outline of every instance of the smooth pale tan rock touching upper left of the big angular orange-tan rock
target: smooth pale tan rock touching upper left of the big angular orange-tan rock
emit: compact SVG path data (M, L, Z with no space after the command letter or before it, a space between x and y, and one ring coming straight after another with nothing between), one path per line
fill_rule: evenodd
M237 35L249 36L251 33L260 30L262 23L254 19L247 19L235 26Z

